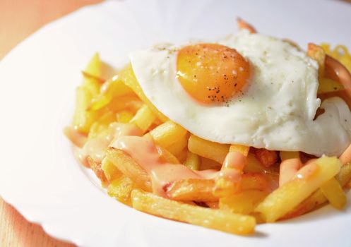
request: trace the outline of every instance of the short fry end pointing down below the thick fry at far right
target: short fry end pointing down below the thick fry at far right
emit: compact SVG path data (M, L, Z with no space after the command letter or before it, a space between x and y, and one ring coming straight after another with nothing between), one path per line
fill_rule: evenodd
M326 196L329 203L338 210L342 210L346 205L346 195L340 183L332 178L321 186L322 193Z

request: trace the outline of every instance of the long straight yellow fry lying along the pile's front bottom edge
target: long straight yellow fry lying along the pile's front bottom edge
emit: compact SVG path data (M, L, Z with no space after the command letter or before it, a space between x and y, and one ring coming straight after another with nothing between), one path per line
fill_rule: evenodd
M151 215L233 234L251 234L256 225L255 218L248 215L187 205L140 190L131 192L131 201L136 210L147 212Z

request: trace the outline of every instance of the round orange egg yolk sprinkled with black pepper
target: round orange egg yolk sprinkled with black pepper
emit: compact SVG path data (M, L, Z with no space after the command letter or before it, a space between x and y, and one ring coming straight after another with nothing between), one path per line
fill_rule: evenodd
M194 99L227 102L249 80L251 68L235 49L221 44L193 44L179 50L177 78Z

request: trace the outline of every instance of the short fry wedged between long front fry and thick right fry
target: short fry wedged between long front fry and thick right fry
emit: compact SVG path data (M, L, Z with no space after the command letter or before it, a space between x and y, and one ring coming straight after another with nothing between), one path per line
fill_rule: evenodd
M234 213L248 215L254 212L258 203L268 195L265 191L242 191L241 193L220 198L219 207Z

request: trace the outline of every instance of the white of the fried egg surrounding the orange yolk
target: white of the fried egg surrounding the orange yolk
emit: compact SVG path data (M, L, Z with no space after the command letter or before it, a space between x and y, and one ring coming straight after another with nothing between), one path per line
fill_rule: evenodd
M177 50L167 45L131 54L131 66L146 97L172 121L218 143L268 150L340 155L351 143L351 113L338 97L321 100L318 65L287 42L239 32L217 43L237 49L254 73L249 84L227 104L208 106L194 100L176 76Z

